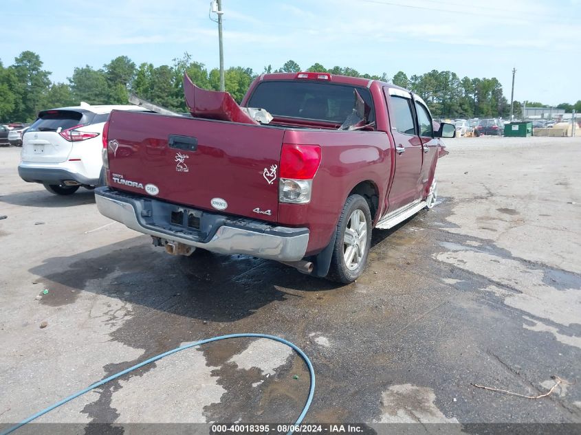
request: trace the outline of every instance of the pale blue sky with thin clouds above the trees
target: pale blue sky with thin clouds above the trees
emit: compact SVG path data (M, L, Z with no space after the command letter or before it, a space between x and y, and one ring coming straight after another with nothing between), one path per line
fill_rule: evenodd
M171 65L188 52L219 65L210 0L2 0L0 59L41 56L52 80L117 56ZM222 0L225 67L260 73L352 67L393 77L432 69L496 77L510 98L581 100L581 0Z

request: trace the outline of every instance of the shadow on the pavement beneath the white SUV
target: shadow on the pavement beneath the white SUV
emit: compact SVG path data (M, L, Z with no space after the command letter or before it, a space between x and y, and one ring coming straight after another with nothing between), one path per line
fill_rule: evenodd
M0 203L41 208L72 207L74 205L95 203L94 192L84 188L80 188L74 194L66 197L49 193L44 188L41 189L0 195Z

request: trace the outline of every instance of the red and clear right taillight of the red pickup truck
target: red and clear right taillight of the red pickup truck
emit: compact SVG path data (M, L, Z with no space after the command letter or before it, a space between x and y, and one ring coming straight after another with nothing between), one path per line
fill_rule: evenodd
M278 200L305 204L311 201L313 178L321 161L318 145L283 144Z

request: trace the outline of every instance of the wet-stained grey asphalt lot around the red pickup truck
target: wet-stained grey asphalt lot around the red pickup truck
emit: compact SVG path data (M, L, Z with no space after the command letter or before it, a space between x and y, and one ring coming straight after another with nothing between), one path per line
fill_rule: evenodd
M309 422L581 423L581 138L448 150L441 203L375 231L366 273L340 287L245 256L168 256L101 216L92 192L21 181L19 148L0 148L0 423L179 344L241 332L309 355ZM536 400L471 385L536 395L551 375L564 383ZM291 350L235 339L39 421L291 423L308 386Z

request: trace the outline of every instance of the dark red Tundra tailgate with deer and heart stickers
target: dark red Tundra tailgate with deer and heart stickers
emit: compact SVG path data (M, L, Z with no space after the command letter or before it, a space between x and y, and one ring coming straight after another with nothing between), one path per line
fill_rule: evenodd
M172 203L276 222L284 129L113 111L108 183Z

